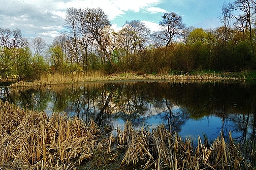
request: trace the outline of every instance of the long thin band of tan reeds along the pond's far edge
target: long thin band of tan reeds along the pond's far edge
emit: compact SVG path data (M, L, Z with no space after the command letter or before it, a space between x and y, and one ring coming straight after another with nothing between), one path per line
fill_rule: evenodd
M72 73L68 75L54 74L46 75L41 80L33 82L19 81L11 84L12 87L17 86L41 86L41 85L56 85L68 84L77 82L96 82L96 81L117 81L117 80L176 80L176 81L237 81L245 80L245 77L228 77L215 74L198 74L198 75L137 75L136 73L122 73L113 75L103 75L100 72L90 72L87 74Z

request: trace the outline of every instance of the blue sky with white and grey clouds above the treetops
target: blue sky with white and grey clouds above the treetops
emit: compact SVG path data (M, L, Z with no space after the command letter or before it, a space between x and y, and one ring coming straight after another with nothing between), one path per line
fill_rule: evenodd
M164 12L182 16L187 27L216 28L225 0L0 0L0 28L19 28L29 41L42 37L47 44L64 31L67 8L100 7L119 30L126 21L140 20L152 31L159 29ZM226 0L226 2L229 2ZM231 1L232 2L232 1Z

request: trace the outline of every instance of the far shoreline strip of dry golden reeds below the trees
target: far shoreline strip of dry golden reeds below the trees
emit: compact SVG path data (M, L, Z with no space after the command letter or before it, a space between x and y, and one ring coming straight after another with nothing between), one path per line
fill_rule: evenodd
M139 81L186 81L186 82L199 82L199 81L245 81L245 77L230 77L219 75L136 75L136 74L118 74L109 76L84 76L84 75L50 75L40 81L19 81L11 84L11 87L19 86L42 86L42 85L58 85L70 83L108 83L108 82L139 82Z

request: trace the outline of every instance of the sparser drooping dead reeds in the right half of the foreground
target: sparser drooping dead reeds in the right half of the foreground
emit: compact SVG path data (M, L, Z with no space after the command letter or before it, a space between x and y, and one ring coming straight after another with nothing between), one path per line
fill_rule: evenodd
M206 147L200 137L198 145L192 147L189 139L185 141L177 133L166 130L162 125L153 129L141 128L135 131L127 122L125 129L117 130L119 147L125 148L122 165L128 166L145 161L146 169L170 170L241 170L246 167L239 146L231 137L229 143L221 136L210 148ZM248 168L248 167L247 167Z

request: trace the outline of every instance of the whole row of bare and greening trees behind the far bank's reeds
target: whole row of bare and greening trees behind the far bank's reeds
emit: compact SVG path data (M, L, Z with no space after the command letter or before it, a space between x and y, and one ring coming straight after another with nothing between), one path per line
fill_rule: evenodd
M155 32L138 20L115 31L100 8L68 8L66 31L48 47L40 37L29 45L19 29L0 28L1 78L40 79L44 72L92 70L139 74L255 70L255 6L255 0L224 2L218 16L223 26L213 29L186 27L180 15L167 12Z

